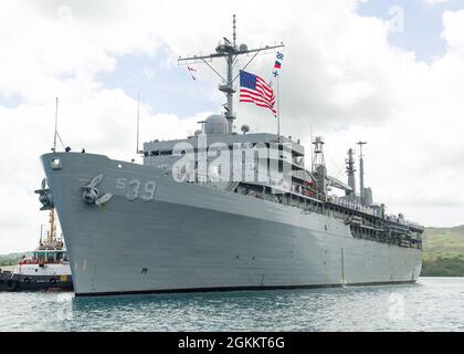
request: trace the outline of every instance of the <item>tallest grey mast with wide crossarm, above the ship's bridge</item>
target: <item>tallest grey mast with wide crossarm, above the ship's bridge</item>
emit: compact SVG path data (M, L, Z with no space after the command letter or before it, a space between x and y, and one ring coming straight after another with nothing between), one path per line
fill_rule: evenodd
M215 53L209 55L193 55L190 58L180 58L179 56L179 64L189 65L189 64L197 64L197 63L204 63L207 64L221 80L222 83L219 85L219 91L223 92L228 98L228 102L224 105L225 108L225 118L229 123L229 133L233 133L233 121L236 118L233 112L233 94L236 92L233 87L233 83L239 77L239 74L234 76L233 66L239 55L243 54L251 54L254 55L250 59L243 70L250 65L250 63L256 58L256 55L261 52L268 53L270 50L275 50L278 48L284 48L284 44L281 43L280 45L265 45L257 49L249 50L246 44L241 44L240 46L236 45L236 17L233 15L233 31L232 31L232 42L229 41L225 37L223 38L223 42L220 43L215 48ZM213 59L215 58L224 58L226 64L226 77L221 75L211 64Z

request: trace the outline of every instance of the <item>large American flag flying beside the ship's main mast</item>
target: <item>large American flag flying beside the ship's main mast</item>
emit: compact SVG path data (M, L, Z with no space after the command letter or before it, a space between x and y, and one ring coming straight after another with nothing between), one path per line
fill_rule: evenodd
M274 108L275 94L272 87L260 76L240 71L240 102L251 102L256 106L266 107L277 116Z

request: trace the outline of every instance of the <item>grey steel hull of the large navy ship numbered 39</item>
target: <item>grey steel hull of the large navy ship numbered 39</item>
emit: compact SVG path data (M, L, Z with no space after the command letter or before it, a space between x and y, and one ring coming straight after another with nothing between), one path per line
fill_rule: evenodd
M51 167L60 158L61 169ZM342 220L226 190L170 171L57 153L42 156L65 235L76 295L405 283L421 250L356 239ZM112 199L83 202L98 185ZM120 179L156 183L150 200Z

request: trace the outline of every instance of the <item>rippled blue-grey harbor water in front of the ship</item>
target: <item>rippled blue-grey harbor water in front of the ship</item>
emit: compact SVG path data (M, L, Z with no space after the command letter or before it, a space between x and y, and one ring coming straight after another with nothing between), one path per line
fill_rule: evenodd
M464 278L292 291L0 293L0 331L462 331Z

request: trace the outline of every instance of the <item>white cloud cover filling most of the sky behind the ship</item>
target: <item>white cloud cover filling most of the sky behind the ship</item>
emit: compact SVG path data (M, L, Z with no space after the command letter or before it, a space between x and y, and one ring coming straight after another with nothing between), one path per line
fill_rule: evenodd
M0 102L9 94L22 104L0 105L0 189L9 199L1 208L0 252L33 248L46 219L33 189L43 176L39 155L51 147L54 97L60 96L66 145L128 160L137 102L122 90L105 88L96 74L114 70L118 55L155 55L160 48L170 53L161 69L172 69L179 54L207 53L222 35L230 37L234 12L239 42L286 44L283 132L309 147L313 125L326 137L334 175L344 169L346 149L368 139L367 183L376 199L428 225L463 223L464 11L444 13L447 51L426 64L390 46L388 23L358 15L356 6L354 0L275 1L266 9L244 1L2 2ZM259 56L251 69L270 75L271 62L272 56ZM154 73L146 71L156 81ZM276 131L267 112L236 108L238 126ZM198 121L143 104L141 139L182 137Z

